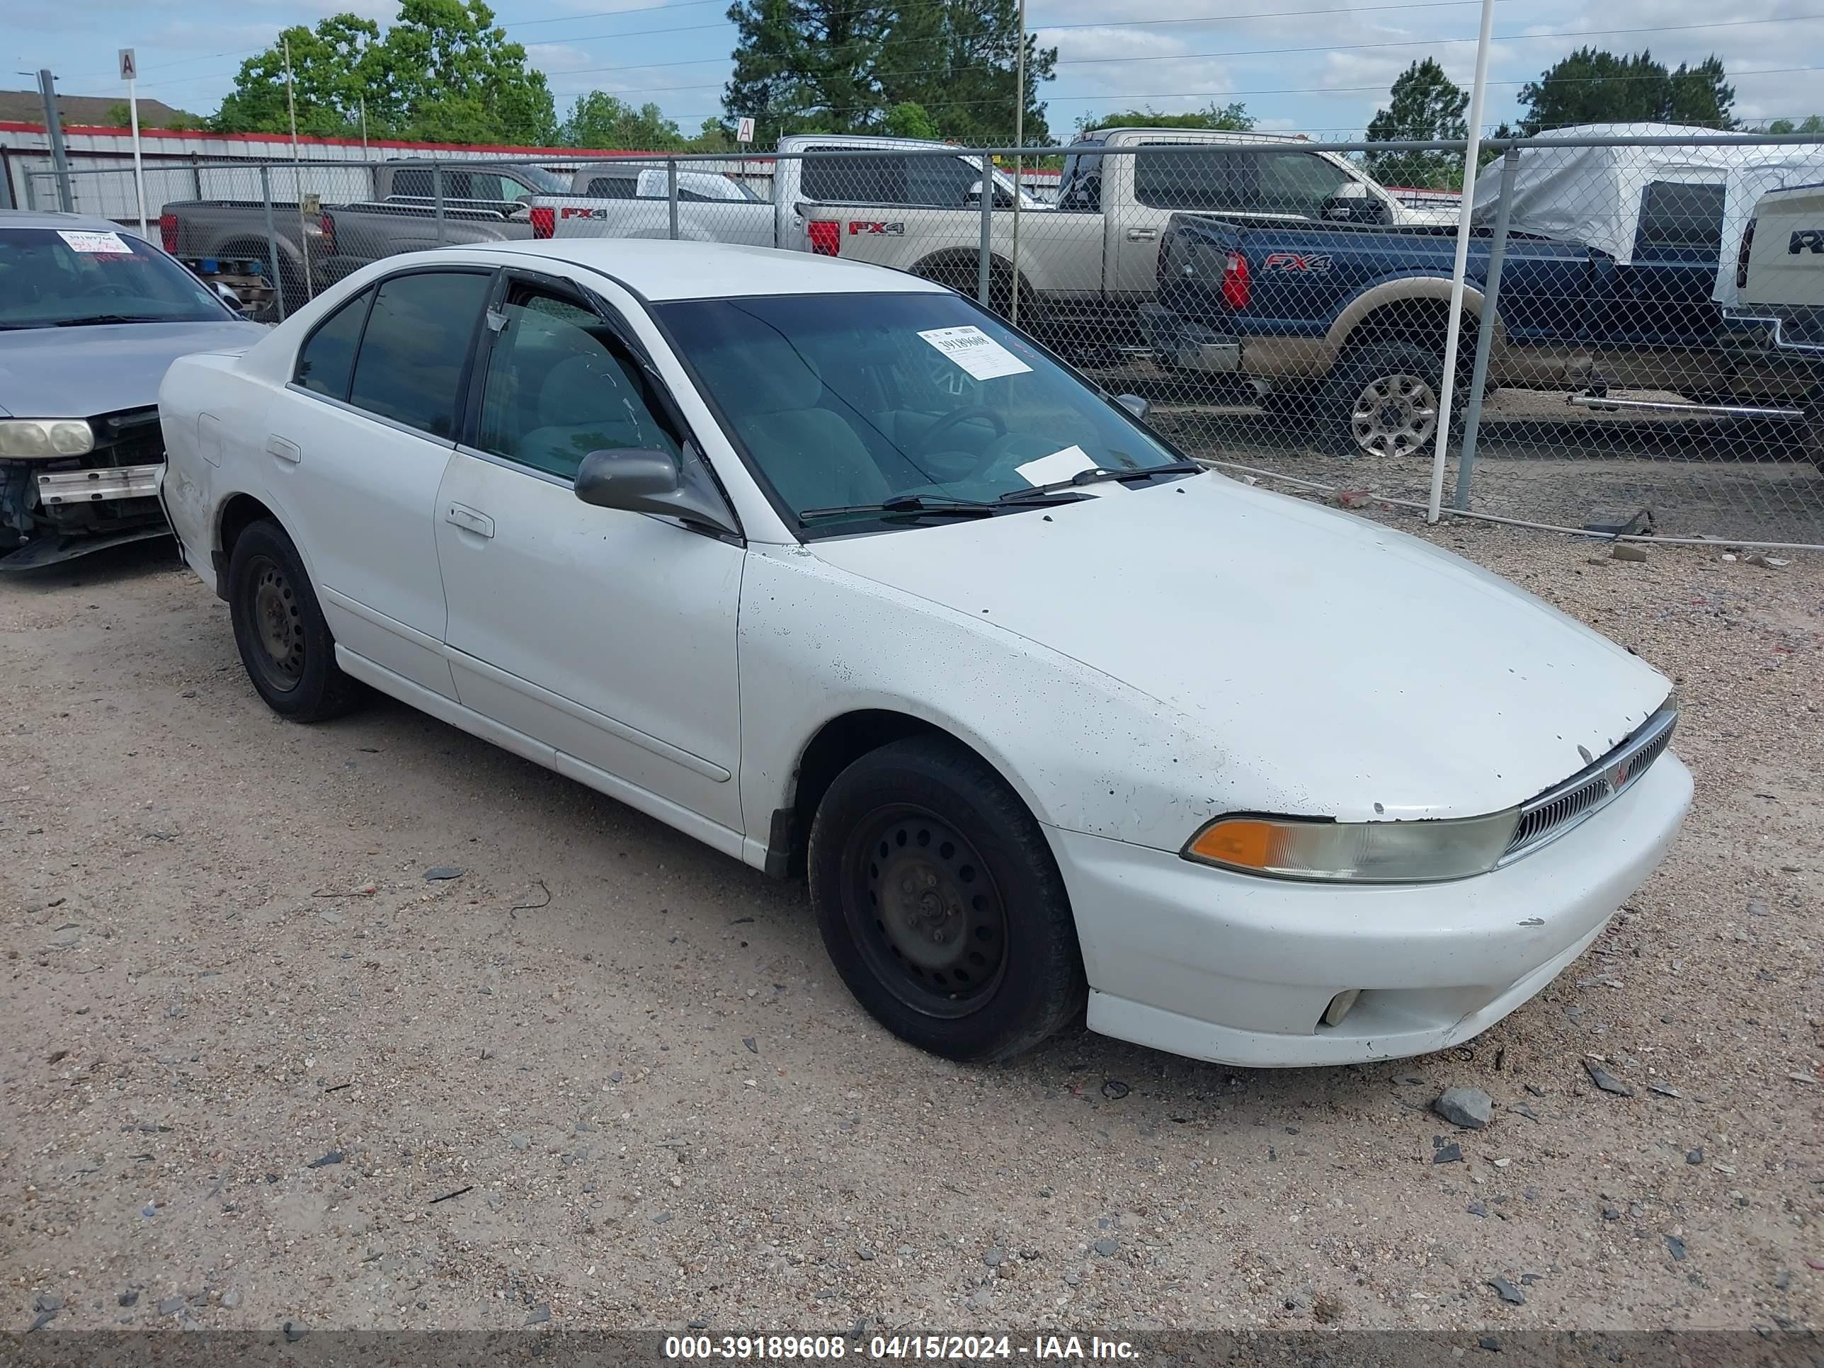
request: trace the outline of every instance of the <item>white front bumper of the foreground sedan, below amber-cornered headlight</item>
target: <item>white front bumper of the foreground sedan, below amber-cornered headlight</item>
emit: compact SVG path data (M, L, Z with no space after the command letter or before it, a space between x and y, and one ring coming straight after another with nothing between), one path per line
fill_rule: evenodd
M1363 1063L1468 1040L1576 959L1671 846L1691 775L1662 755L1549 846L1474 879L1260 879L1047 834L1076 908L1089 1027L1217 1063ZM1337 1025L1339 992L1359 989Z

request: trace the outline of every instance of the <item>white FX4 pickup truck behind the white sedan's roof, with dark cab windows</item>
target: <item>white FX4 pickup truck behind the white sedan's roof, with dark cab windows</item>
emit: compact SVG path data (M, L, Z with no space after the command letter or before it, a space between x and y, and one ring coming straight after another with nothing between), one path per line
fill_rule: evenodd
M907 157L907 151L950 155ZM770 197L761 199L746 182L713 170L730 164L770 171ZM777 153L680 162L677 237L817 252L824 248L806 228L814 206L866 204L879 217L912 206L974 204L979 186L981 157L943 142L795 135L781 139ZM534 237L671 237L669 199L668 168L629 159L584 166L567 195L534 195L527 204ZM994 171L994 199L1009 210L1014 204L1012 181L1000 171ZM1021 208L1047 206L1025 197Z

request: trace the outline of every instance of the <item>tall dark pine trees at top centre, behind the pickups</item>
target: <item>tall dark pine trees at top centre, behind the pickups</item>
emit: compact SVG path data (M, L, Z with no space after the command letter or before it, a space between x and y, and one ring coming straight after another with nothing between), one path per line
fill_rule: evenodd
M916 126L959 142L1014 131L1018 0L737 0L724 128L742 115L766 144L784 133ZM1049 142L1038 86L1058 53L1027 35L1025 128ZM899 106L917 106L914 120Z

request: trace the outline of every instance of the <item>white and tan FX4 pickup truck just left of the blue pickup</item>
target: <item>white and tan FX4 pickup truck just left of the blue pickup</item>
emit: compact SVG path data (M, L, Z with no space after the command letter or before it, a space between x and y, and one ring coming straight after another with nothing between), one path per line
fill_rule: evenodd
M1135 330L1135 312L1153 299L1158 239L1180 210L1229 217L1368 224L1456 223L1448 208L1412 208L1350 161L1302 146L1295 135L1178 128L1098 130L1069 148L1058 202L1020 223L1020 321L1071 336ZM1120 155L1111 155L1120 153ZM810 175L810 171L806 171ZM824 250L976 294L981 219L972 188L917 213L824 202L806 208L812 250ZM819 199L819 197L810 197ZM830 199L830 197L821 197ZM998 308L1014 288L1014 215L990 224L990 288ZM1107 332L1109 325L1116 332Z

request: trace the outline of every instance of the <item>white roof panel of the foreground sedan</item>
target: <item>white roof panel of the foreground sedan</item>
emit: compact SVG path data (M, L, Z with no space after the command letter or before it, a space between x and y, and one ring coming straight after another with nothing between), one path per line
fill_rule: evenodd
M941 285L886 266L728 243L669 243L629 237L554 237L534 243L480 243L469 252L551 257L609 275L655 303L766 294L939 294ZM390 257L389 257L390 259ZM410 261L423 263L414 252Z

